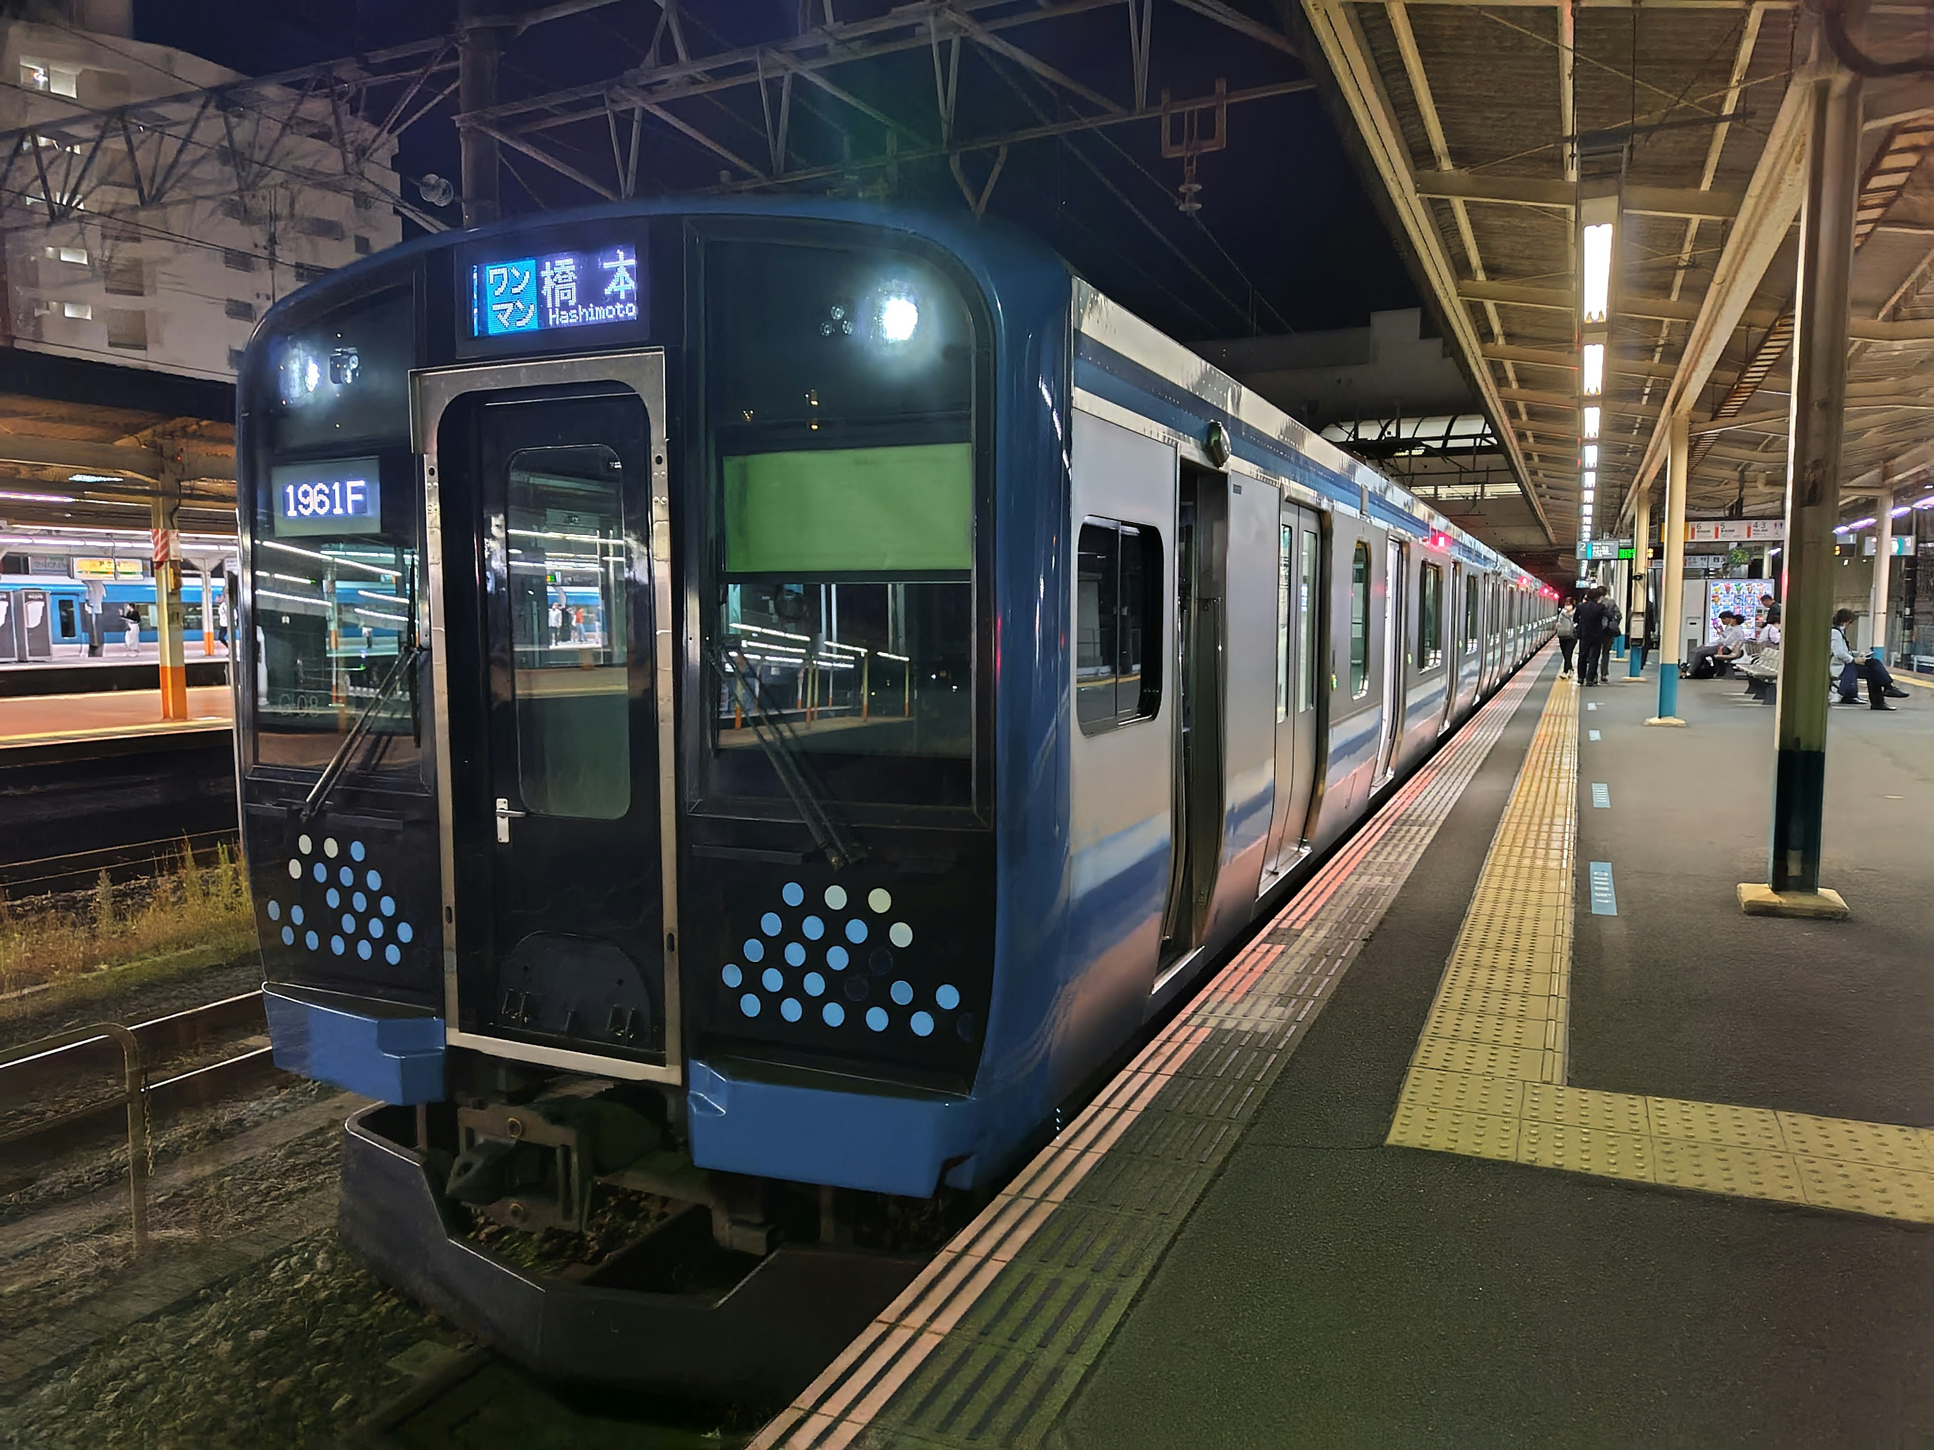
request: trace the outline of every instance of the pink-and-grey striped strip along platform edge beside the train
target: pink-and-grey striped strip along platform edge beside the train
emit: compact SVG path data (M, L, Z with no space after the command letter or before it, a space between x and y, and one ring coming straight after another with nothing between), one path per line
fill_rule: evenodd
M1538 673L1412 775L754 1450L1039 1444ZM1474 1131L1516 1131L1478 1092Z

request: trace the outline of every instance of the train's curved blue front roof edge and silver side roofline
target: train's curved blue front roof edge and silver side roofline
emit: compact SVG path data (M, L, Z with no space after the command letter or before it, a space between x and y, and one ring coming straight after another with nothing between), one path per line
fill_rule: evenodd
M1238 456L1273 474L1311 485L1333 503L1356 508L1387 526L1423 536L1443 534L1452 541L1452 553L1466 563L1493 570L1516 570L1520 582L1536 584L1536 578L1507 555L1466 534L1408 489L1369 464L1352 458L1186 344L1106 298L1031 232L986 218L832 197L650 197L516 217L489 226L453 228L414 238L309 282L269 309L255 329L249 350L253 352L261 338L282 327L288 313L304 311L337 292L354 294L360 284L383 276L402 261L470 242L487 242L493 236L509 238L532 228L625 217L791 217L886 228L946 247L994 298L1002 296L1004 286L1013 286L1027 275L1039 278L1044 269L1052 269L1073 286L1077 340L1126 358L1131 365L1147 369L1170 387L1180 387L1195 404L1222 414L1232 435L1232 450ZM1201 410L1201 406L1191 408L1197 414ZM1311 474L1309 468L1300 466L1302 460L1315 464L1317 472Z

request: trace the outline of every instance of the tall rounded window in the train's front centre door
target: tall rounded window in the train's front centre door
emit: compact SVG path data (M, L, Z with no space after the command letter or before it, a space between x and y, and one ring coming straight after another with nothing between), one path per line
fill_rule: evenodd
M619 456L511 454L505 497L518 787L543 816L630 810L629 559Z

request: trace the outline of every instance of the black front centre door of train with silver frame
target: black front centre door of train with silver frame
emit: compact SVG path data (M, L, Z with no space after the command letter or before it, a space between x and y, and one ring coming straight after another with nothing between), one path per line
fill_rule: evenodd
M449 1040L675 1081L663 354L416 389Z

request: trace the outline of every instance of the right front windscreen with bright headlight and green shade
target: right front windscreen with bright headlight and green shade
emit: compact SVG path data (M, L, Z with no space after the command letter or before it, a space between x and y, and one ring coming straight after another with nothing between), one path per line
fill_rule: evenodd
M758 719L841 802L973 806L975 313L913 255L704 249L706 793L785 798Z

